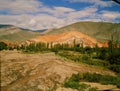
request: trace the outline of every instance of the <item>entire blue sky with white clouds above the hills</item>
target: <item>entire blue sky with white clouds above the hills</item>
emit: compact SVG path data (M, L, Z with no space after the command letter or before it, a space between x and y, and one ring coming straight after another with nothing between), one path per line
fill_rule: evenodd
M42 30L80 21L120 23L112 0L0 0L0 24Z

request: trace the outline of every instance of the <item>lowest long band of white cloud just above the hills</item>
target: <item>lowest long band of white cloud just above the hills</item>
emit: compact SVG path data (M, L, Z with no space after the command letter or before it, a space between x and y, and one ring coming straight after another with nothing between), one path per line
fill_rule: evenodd
M61 8L61 7L60 7ZM64 7L63 7L64 8ZM33 30L38 29L49 29L62 27L68 24L72 24L78 21L114 21L116 18L120 17L118 12L103 11L97 13L97 8L89 7L80 11L71 10L69 13L64 13L64 17L60 17L60 14L57 14L57 10L51 10L49 14L20 14L20 15L0 15L0 24L11 24L23 28L29 28ZM48 10L48 11L49 11ZM54 12L53 12L54 11Z

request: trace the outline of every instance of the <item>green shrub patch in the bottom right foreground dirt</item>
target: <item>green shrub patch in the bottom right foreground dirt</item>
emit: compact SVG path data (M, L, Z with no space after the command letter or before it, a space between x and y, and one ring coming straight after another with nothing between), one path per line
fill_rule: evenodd
M70 87L74 89L79 89L80 87L86 89L87 87L90 87L85 84L79 84L81 81L85 82L97 82L101 84L112 84L116 85L118 88L120 88L120 76L110 76L110 75L101 75L97 73L78 73L73 74L69 79L67 79L64 83L65 87ZM89 88L89 91L96 91L97 88Z

